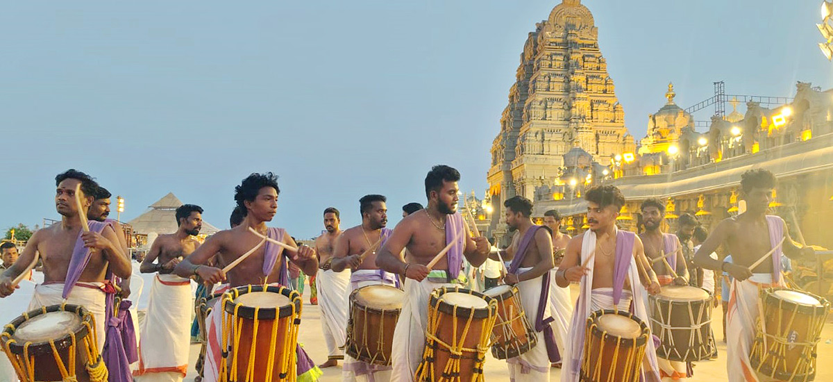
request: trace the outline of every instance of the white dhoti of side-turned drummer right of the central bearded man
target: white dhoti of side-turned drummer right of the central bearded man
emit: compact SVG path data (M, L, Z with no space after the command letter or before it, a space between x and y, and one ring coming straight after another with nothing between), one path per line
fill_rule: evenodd
M531 268L520 268L518 274ZM544 276L541 276L544 277ZM535 327L538 314L538 304L541 300L541 277L521 281L515 286L521 298L521 306L529 323ZM550 316L549 301L545 302L544 317ZM535 332L537 344L517 357L506 359L509 365L509 379L512 382L548 381L550 380L550 357L546 353L546 342L543 332Z

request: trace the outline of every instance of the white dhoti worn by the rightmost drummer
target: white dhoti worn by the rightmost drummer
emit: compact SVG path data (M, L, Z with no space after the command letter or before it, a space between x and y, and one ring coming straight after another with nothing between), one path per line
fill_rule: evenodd
M726 310L726 372L729 382L758 382L749 363L749 354L761 304L761 288L775 286L772 274L752 274L744 281L733 280L729 292L729 308Z

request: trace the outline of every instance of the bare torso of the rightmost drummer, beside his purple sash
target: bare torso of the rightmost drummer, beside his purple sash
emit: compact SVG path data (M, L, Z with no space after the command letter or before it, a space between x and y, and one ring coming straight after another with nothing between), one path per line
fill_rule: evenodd
M729 218L721 224L727 229L726 247L731 254L732 263L750 266L772 249L769 226L766 219ZM755 274L772 273L772 262L763 261L755 269Z

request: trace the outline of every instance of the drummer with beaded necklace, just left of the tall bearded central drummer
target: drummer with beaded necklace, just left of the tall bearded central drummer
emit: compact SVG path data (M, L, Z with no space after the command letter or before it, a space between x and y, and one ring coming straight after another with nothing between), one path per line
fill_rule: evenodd
M387 198L382 195L365 195L359 199L359 210L362 212L362 224L344 231L336 240L333 251L332 271L342 272L352 269L350 275L350 289L353 290L367 285L398 286L397 274L389 274L376 264L376 254L385 244L392 229L387 228ZM365 254L362 259L362 254ZM369 380L390 380L391 367L352 359L345 354L343 378L344 381L356 380L366 375Z

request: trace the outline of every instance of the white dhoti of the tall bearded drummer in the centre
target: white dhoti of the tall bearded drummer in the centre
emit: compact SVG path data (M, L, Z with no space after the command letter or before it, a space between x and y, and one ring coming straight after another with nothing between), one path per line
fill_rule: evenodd
M425 330L428 326L428 299L431 291L456 284L436 283L423 279L405 279L405 301L393 332L391 354L392 382L412 382L425 350Z

